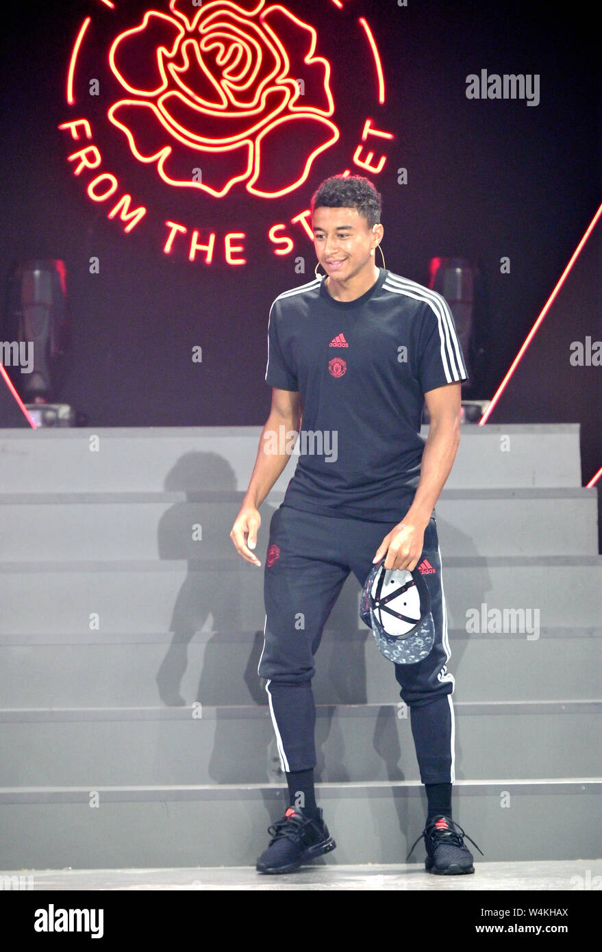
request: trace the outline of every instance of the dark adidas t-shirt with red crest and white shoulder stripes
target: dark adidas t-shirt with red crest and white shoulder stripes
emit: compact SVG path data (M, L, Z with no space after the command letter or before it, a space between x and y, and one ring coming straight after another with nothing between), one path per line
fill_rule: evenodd
M429 288L380 268L354 301L331 297L322 276L284 291L266 382L298 391L303 410L284 505L401 522L420 476L424 394L467 379L452 312Z

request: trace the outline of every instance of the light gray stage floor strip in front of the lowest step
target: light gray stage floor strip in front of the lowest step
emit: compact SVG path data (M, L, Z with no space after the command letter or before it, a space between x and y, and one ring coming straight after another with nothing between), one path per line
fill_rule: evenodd
M262 876L251 866L190 869L42 869L0 871L20 890L570 890L602 887L602 860L476 863L474 874L433 876L422 865L337 866L324 861L296 873ZM16 882L12 879L16 886Z

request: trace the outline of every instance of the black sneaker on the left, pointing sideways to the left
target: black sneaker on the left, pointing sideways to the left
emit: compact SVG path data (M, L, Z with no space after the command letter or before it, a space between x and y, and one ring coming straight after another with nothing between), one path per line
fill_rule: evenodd
M268 830L271 841L257 860L258 873L292 873L302 863L330 853L336 843L318 811L318 820L305 816L303 810L290 806L282 820Z

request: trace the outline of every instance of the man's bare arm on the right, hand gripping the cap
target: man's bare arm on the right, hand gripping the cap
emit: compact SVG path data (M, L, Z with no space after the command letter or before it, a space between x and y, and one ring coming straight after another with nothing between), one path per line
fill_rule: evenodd
M422 455L418 487L408 512L383 539L372 562L378 562L387 553L385 568L411 571L418 564L425 529L450 475L460 442L461 391L461 384L448 384L425 393L431 429Z

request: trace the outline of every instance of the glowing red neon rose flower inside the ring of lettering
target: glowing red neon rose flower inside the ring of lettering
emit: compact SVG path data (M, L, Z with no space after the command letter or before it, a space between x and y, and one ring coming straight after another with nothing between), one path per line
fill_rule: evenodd
M122 33L110 49L110 69L136 98L115 103L109 118L127 135L133 155L157 162L170 185L200 188L219 198L236 182L267 198L297 188L315 156L339 137L329 118L334 112L330 67L312 55L315 30L283 7L243 16L225 2L201 8L192 21L183 20L147 12L142 26ZM291 58L279 38L294 31L301 34L299 48L309 48L301 64L303 82L311 70L317 72L321 96L316 95L315 106L306 105L307 96L300 95L293 78L299 72L291 76ZM141 63L152 63L154 75L140 69ZM262 187L262 152L283 136L303 142L314 138L318 145L302 176L291 182L284 167L280 188ZM188 180L178 176L177 149L185 153ZM191 158L202 165L203 182L191 182Z

